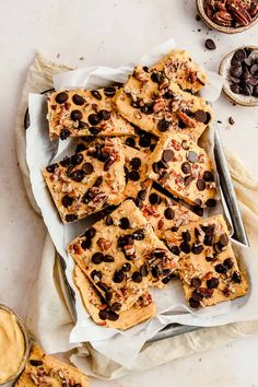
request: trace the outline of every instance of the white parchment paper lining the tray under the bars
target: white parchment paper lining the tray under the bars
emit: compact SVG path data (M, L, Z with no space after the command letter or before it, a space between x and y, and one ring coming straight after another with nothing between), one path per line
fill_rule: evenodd
M146 64L155 62L161 55L166 54L173 47L173 40L166 42L159 46L153 54L143 57L142 61L139 60L139 62ZM54 83L56 89L99 87L114 81L124 82L130 71L131 67L118 70L93 67L58 74L54 78ZM212 82L206 87L203 93L208 101L214 101L220 94L222 82L216 74L209 74L209 78L210 82L211 80ZM69 140L49 141L45 96L31 94L28 107L31 126L26 133L26 157L33 192L52 242L58 253L66 260L67 278L75 292L78 321L70 335L72 343L89 341L98 352L126 367L130 367L143 343L168 322L208 327L246 320L247 317L249 320L258 318L258 305L256 302L258 263L256 263L254 253L249 248L234 244L234 249L239 258L243 259L244 256L249 274L250 292L245 297L192 313L184 300L179 282L174 282L165 290L151 290L157 305L157 315L151 321L142 322L125 332L103 328L93 322L83 307L80 294L73 284L74 263L72 258L66 253L66 246L75 236L85 231L89 226L89 221L83 220L63 225L42 176L42 168L54 160L60 160L72 152L73 142Z

